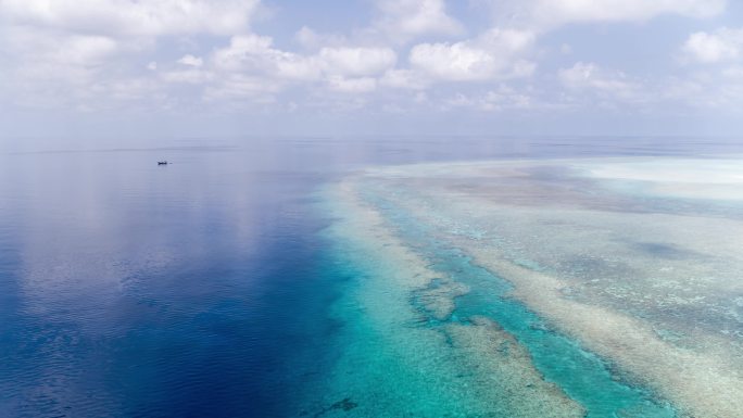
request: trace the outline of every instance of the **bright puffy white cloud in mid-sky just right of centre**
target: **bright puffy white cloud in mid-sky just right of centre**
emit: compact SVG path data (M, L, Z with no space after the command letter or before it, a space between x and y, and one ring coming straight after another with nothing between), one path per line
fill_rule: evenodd
M420 43L411 50L414 68L452 81L488 80L530 75L534 64L522 60L534 41L528 31L491 29L455 43Z

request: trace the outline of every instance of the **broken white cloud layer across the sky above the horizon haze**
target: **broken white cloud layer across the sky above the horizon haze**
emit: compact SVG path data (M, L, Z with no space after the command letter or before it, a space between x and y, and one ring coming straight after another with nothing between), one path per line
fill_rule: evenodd
M348 5L352 24L278 24L287 10L312 7L3 0L0 104L85 114L257 106L312 115L652 113L669 104L682 113L740 109L743 101L743 20L731 20L723 0L376 0ZM673 22L696 29L678 33ZM631 60L618 66L612 55L634 47L601 39L596 28L607 27L654 27L677 40L652 51L660 71ZM608 42L604 55L582 55L588 43L571 31L599 34L593 45Z

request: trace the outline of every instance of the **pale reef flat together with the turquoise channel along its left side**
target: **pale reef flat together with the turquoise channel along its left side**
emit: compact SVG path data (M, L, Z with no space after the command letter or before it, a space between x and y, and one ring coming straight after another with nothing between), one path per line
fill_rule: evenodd
M743 187L740 161L645 159L642 169L672 165L684 178L687 167L717 174L733 166L726 178ZM694 176L645 180L640 191L617 187L622 178L584 178L584 167L637 164L379 167L351 179L355 191L347 194L363 195L386 219L368 228L369 239L380 228L393 231L438 271L419 292L441 293L429 289L438 276L466 287L437 295L456 305L444 319L494 320L588 416L734 416L743 407L743 206L727 195L718 204ZM668 181L683 193L647 192L668 190ZM502 380L509 379L515 390L518 379Z

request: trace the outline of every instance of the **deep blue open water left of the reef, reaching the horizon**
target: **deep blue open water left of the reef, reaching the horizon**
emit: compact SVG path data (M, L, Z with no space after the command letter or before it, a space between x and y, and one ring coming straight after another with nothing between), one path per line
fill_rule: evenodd
M327 307L353 279L330 268L313 192L364 165L740 152L689 138L1 145L0 417L286 416L333 359Z

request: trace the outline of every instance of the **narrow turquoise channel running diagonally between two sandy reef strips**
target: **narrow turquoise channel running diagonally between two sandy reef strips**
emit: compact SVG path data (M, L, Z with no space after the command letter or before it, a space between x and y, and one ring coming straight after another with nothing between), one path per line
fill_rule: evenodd
M539 316L509 299L511 287L505 280L474 265L458 249L439 241L435 231L418 219L379 193L366 193L366 199L382 211L404 242L431 263L430 268L469 288L468 293L455 297L456 307L451 316L441 320L429 315L425 327L437 329L446 322L466 325L476 316L494 320L528 349L544 378L578 401L587 409L588 417L677 416L651 392L624 381L610 365L581 347L579 342L555 332ZM416 305L414 295L411 303ZM418 307L418 311L425 314L424 308ZM518 411L513 414L518 416Z

